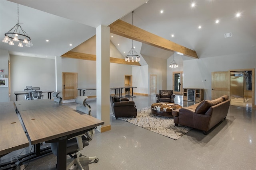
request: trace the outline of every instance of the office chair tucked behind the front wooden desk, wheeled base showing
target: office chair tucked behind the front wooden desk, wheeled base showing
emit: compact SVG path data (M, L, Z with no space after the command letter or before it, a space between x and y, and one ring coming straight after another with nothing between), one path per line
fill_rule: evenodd
M76 98L76 102L82 102L85 103L85 100L87 99L87 96L78 96ZM86 103L87 104L87 103ZM83 107L88 107L88 109L82 109L81 112L83 112L84 110L87 110L86 113L88 115L91 115L91 107L89 105L86 105ZM81 150L84 149L84 147L89 145L89 142L92 141L92 137L94 135L95 131L90 130L88 132L86 132L85 134L82 135L78 135L76 137L73 137L71 139L68 139L67 141L67 154L70 156L70 159L67 160L68 165L67 165L67 170L72 166L72 165L76 165L78 166L78 168L80 170L84 170L84 168L81 165L81 161L85 161L85 160L94 160L95 163L98 162L98 158L96 156L91 156L91 157L86 157L84 155L81 154ZM57 156L57 143L51 143L51 149L52 149L52 153L54 155ZM89 163L89 162L88 162Z

